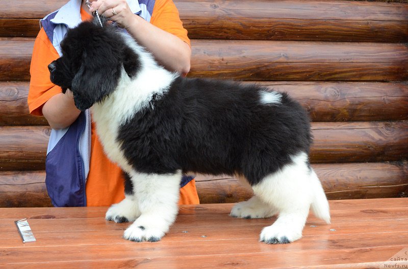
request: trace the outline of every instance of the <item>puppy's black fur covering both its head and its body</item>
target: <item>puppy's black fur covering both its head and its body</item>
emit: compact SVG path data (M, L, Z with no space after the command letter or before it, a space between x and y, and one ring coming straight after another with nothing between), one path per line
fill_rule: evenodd
M71 89L81 110L115 91L122 67L133 78L143 65L109 25L83 22L61 47L51 80ZM280 102L263 104L264 92L259 85L177 77L112 139L139 172L241 174L256 185L298 153L308 154L312 142L307 112L285 93Z

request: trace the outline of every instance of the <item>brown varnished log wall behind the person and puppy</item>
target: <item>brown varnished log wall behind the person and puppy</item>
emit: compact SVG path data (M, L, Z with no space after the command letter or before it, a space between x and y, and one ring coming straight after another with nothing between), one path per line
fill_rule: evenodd
M27 107L39 19L65 0L0 0L0 206L49 206L49 127ZM288 92L312 118L312 166L330 199L408 196L408 1L174 0L190 77ZM4 5L3 5L4 4ZM202 203L251 192L199 175Z

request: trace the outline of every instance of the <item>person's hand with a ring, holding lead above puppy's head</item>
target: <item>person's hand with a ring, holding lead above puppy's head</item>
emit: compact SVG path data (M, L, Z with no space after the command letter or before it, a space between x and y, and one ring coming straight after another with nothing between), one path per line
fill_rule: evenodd
M98 11L99 16L103 15L113 21L116 21L121 27L125 28L131 24L134 17L126 0L98 0L91 3L90 12Z

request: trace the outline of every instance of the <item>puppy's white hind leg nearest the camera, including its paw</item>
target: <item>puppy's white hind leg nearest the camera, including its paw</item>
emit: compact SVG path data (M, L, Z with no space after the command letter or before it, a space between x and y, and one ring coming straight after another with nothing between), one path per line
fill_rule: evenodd
M311 170L307 160L306 154L299 154L292 158L292 164L253 186L254 193L279 212L275 223L262 230L260 241L287 244L302 236L313 200Z

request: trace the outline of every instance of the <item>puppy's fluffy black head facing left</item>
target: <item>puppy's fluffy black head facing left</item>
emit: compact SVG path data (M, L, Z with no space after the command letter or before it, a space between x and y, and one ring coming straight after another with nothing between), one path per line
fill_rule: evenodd
M82 22L69 29L61 49L62 56L48 66L50 79L62 87L64 94L67 88L72 91L75 106L80 110L111 94L122 68L131 77L140 68L138 55L106 22L104 27Z

